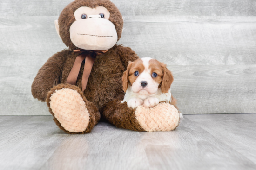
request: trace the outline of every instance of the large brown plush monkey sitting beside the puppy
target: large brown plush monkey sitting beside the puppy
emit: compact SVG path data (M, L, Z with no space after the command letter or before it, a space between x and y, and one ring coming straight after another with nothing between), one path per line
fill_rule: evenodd
M101 117L135 131L172 130L178 126L179 113L173 105L160 103L135 110L121 103L122 73L138 56L130 48L116 45L123 19L111 1L75 0L64 8L55 26L68 50L54 54L42 66L32 84L32 94L47 102L63 131L91 132ZM161 114L159 109L172 112L164 118L168 120L164 126L155 122Z

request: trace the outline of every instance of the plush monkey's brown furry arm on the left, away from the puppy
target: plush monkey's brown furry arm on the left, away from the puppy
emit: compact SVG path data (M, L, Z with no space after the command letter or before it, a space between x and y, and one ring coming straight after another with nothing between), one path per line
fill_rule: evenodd
M31 86L31 92L34 98L44 102L48 91L61 83L62 69L67 60L68 52L68 50L62 50L54 54L39 69Z

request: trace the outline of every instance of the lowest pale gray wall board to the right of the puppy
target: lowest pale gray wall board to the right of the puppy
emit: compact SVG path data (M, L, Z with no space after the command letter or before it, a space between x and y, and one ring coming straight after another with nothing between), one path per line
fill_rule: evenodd
M168 65L185 114L256 113L256 65Z

